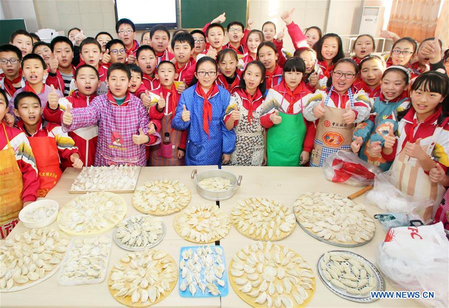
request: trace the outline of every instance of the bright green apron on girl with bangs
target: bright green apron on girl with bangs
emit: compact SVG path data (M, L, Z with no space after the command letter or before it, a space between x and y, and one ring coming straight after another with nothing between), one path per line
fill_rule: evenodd
M303 152L306 125L303 114L279 112L282 122L273 125L267 133L267 159L269 166L299 166Z

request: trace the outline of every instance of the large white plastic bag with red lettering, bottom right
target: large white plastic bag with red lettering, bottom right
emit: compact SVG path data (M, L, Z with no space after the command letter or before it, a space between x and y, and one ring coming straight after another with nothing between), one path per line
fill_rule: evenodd
M448 307L449 244L441 222L390 229L379 244L376 261L396 289L433 291L435 298L421 299L421 303Z

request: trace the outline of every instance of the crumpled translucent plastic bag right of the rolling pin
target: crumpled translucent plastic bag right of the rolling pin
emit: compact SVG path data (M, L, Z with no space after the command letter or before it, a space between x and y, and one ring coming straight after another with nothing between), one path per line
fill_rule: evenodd
M414 197L403 193L396 188L395 182L393 170L377 174L374 178L374 188L368 192L366 200L388 212L412 214L413 219L417 218L417 215L425 208L433 205L434 201L430 198Z

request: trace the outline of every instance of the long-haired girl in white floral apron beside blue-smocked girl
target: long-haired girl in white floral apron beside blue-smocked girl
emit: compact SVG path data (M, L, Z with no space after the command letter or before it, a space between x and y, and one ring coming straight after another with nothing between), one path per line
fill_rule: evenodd
M265 93L265 66L251 61L242 73L240 85L232 91L226 110L226 128L237 135L231 164L260 166L266 162L264 128L260 124Z

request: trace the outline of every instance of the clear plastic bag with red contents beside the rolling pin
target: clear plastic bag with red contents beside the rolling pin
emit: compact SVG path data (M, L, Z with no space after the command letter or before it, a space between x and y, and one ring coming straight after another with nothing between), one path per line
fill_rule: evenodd
M376 174L382 170L352 152L332 153L323 163L323 171L328 181L352 186L372 185Z

